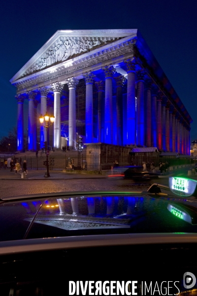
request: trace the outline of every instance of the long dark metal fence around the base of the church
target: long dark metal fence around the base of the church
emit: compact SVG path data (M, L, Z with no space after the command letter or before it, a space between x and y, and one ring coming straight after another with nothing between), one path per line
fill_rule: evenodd
M23 157L27 160L27 168L33 170L46 170L44 162L46 155L43 154L38 157ZM101 171L110 170L115 161L118 161L119 166L127 165L142 165L142 162L154 162L155 167L159 167L160 162L168 162L170 166L178 166L183 164L190 164L193 159L190 158L165 158L165 157L151 157L151 156L106 156L106 155L77 155L64 154L63 156L52 156L49 159L49 170L88 170Z

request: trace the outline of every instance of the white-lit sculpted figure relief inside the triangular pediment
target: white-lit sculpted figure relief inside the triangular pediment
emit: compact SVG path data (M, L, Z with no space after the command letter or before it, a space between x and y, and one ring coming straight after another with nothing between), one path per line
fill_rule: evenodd
M121 37L59 37L22 77L89 52Z

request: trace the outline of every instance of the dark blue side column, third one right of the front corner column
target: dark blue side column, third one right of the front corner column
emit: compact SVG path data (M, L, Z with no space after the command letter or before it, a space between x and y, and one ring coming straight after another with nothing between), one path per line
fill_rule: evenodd
M157 93L158 87L152 86L151 89L151 130L152 130L152 145L157 147Z

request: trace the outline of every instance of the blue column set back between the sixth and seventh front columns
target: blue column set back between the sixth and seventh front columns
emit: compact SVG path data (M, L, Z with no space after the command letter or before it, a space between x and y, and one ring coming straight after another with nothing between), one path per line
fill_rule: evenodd
M104 84L95 82L98 90L98 142L104 143Z

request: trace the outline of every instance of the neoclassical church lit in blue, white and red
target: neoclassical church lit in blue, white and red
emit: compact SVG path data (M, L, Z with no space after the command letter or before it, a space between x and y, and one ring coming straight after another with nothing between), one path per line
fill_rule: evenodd
M190 154L193 120L136 29L57 31L10 82L17 89L19 151L28 115L29 150L47 139L60 149L64 138L76 149L80 135L86 144ZM48 129L39 123L46 112L55 116Z

